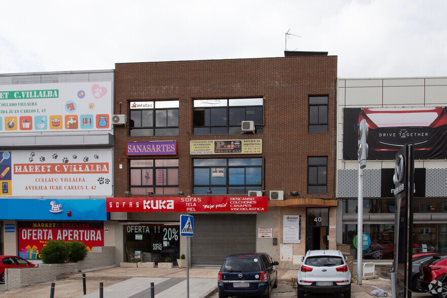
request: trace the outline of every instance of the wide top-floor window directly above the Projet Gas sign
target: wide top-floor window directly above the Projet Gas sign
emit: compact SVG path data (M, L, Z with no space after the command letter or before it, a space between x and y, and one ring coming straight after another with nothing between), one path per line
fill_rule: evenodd
M194 134L239 134L242 121L263 133L262 98L194 100Z

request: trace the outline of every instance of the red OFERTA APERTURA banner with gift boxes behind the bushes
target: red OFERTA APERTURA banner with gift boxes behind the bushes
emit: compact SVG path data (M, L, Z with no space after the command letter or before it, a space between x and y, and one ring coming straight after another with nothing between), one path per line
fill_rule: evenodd
M75 240L84 243L90 252L104 246L103 222L82 221L19 221L19 256L41 258L48 240Z

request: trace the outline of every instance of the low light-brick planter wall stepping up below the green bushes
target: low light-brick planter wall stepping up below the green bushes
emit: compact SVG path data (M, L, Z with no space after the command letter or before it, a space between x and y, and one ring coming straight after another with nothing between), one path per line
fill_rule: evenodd
M78 263L39 264L38 267L6 269L6 288L7 290L13 290L35 283L56 280L61 274L112 265L116 265L114 246L93 247L92 252L87 254L87 258Z

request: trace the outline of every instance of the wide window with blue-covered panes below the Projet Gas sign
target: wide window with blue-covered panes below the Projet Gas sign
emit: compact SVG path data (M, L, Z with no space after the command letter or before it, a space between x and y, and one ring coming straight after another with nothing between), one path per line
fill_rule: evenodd
M248 194L262 190L262 158L195 159L194 194Z

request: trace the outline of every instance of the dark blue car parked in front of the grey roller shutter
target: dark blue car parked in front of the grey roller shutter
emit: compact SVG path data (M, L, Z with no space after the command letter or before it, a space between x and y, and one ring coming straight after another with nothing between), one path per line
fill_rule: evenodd
M278 286L279 263L268 253L248 252L225 258L217 276L219 298L229 296L271 297L272 288Z

